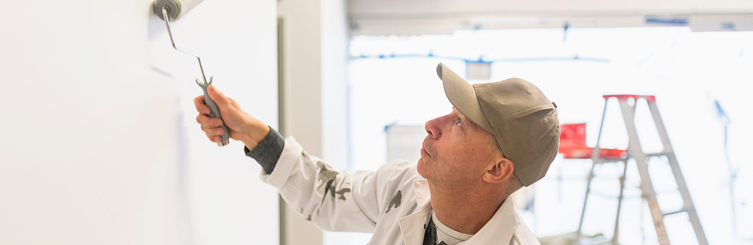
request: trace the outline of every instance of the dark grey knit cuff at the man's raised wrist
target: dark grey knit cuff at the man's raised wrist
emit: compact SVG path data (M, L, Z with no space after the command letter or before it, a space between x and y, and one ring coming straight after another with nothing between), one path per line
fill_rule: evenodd
M248 147L243 147L243 152L245 152L245 156L255 159L261 165L261 168L264 168L264 172L272 174L284 147L285 139L275 129L270 127L270 133L263 140L259 141L254 150L248 150Z

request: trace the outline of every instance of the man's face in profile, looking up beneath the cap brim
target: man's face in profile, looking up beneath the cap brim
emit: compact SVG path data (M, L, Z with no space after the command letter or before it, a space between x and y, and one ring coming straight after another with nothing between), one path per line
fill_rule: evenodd
M494 136L476 126L453 107L453 112L425 124L418 172L434 183L483 181L496 151ZM490 144L493 142L494 144Z

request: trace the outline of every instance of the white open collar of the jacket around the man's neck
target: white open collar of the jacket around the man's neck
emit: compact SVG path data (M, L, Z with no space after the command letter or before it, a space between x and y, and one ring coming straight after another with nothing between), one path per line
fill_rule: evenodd
M418 204L420 211L404 216L398 223L406 245L422 245L424 229L428 224L429 214L431 213L431 193L428 189L427 180L413 180L413 186L416 192L416 204ZM509 243L518 225L513 202L512 195L508 196L497 209L497 212L494 213L492 219L489 219L489 222L486 222L486 225L483 225L483 228L474 234L471 239L459 243L459 245Z

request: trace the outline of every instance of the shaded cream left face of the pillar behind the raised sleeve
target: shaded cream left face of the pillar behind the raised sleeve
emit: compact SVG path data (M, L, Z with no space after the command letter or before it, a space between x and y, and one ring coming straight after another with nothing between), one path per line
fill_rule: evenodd
M277 14L282 20L282 92L285 137L293 135L312 156L322 156L322 3L282 0ZM282 200L282 199L281 199ZM287 204L282 245L322 243L322 231Z

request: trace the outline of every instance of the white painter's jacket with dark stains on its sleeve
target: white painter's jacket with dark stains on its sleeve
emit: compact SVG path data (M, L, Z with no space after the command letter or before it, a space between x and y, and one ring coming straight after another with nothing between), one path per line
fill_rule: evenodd
M261 180L324 230L373 232L371 245L423 243L431 202L416 162L398 160L377 171L338 173L288 137L274 171L261 171ZM540 243L508 197L480 231L460 244Z

